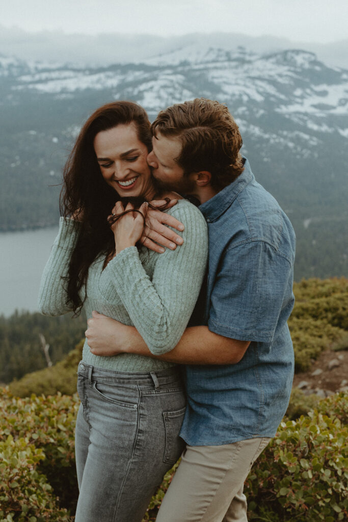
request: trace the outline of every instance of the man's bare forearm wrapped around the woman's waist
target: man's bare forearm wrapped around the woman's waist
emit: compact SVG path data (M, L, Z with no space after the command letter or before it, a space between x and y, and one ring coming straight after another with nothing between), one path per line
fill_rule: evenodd
M162 361L181 364L235 364L249 346L239 341L215 334L207 326L186 328L178 344L170 352L153 355L134 326L127 326L127 342L122 350L127 353L146 355Z

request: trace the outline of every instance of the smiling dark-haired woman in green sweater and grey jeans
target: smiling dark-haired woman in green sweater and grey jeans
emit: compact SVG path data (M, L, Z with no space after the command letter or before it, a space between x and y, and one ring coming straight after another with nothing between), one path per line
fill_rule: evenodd
M59 315L83 307L87 317L97 310L134 325L151 352L162 354L174 348L194 309L207 230L200 212L179 200L169 213L185 225L184 244L163 254L136 246L146 201L166 196L156 194L150 150L150 123L135 103L104 105L83 126L64 170L63 217L39 308ZM145 203L134 210L124 207L123 197ZM75 520L140 522L182 451L185 397L178 369L138 355L99 357L86 341L78 393Z

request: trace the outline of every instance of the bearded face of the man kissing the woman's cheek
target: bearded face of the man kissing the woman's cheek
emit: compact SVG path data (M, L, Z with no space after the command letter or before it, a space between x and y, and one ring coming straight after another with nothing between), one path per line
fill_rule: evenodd
M152 138L152 151L147 162L152 168L153 177L165 188L192 194L195 182L191 175L184 175L184 170L176 163L181 154L182 145L178 138L167 138L157 133Z

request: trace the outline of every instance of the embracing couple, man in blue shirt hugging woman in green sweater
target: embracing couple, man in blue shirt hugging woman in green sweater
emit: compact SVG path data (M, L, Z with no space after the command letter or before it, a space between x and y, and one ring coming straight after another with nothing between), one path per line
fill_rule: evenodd
M247 520L244 481L291 392L295 237L241 146L206 99L151 126L113 102L77 138L39 295L89 318L76 522L141 522L180 456L158 522Z

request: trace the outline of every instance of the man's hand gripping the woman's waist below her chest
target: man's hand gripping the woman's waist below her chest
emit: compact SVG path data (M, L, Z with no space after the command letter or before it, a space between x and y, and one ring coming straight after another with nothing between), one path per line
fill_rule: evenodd
M126 348L131 342L133 328L119 323L111 317L99 314L93 310L92 317L87 321L88 328L85 331L88 346L94 355L117 355L123 350L119 346L124 342ZM117 340L117 344L116 344Z

